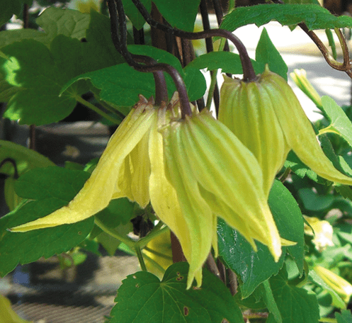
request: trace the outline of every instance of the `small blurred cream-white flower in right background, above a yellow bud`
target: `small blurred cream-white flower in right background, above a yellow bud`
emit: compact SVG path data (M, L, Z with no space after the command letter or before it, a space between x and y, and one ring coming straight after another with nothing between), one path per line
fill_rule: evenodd
M334 246L334 242L332 242L332 234L334 230L329 222L326 220L319 220L317 217L303 216L310 225L308 226L305 224L305 234L314 236L312 243L317 251L322 252L324 249L327 249L327 246Z

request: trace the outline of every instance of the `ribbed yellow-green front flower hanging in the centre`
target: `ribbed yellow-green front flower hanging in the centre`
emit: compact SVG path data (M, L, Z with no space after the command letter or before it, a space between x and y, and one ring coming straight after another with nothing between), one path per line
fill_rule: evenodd
M161 129L166 176L176 189L183 217L191 230L190 272L198 272L212 245L217 253L216 219L222 217L256 250L266 244L278 261L281 242L263 192L263 175L249 149L204 109Z

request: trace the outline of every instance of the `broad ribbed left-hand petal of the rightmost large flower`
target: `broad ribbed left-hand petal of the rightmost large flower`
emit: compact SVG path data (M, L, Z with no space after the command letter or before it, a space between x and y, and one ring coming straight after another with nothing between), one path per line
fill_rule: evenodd
M266 197L283 166L288 147L276 118L271 96L261 81L224 77L218 119L254 154L263 172Z

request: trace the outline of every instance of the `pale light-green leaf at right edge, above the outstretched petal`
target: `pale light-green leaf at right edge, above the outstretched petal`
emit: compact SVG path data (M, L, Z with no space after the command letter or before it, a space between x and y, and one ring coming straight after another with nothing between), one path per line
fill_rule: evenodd
M322 110L330 121L330 125L325 128L324 132L334 132L340 135L352 147L352 123L344 110L329 96L322 96Z

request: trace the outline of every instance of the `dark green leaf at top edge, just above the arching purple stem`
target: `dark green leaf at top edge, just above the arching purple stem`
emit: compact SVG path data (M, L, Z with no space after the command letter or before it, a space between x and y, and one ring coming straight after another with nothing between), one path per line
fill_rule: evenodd
M193 31L200 0L154 0L153 2L171 27Z

